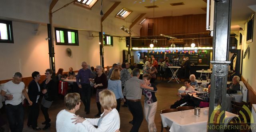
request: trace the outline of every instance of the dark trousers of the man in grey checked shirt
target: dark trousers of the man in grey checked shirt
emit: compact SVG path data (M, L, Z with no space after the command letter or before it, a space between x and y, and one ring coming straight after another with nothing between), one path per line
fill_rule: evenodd
M133 102L127 100L128 108L133 116L133 126L130 132L138 132L140 129L140 125L143 121L143 109L140 101Z

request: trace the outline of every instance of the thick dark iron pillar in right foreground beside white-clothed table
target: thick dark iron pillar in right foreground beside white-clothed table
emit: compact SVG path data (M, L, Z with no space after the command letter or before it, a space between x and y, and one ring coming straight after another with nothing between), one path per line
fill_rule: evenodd
M232 0L214 0L213 60L208 132L223 132L227 106L228 45Z

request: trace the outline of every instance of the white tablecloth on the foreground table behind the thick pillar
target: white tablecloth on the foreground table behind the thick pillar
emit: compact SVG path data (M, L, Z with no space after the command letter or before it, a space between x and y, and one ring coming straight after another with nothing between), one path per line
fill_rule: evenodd
M193 110L185 110L184 118L181 118L181 111L170 112L160 114L162 124L164 127L169 126L170 132L206 132L207 131L207 122L208 114L204 114L204 110L209 109L201 108L200 117L194 115ZM225 122L233 117L237 116L236 114L225 112Z

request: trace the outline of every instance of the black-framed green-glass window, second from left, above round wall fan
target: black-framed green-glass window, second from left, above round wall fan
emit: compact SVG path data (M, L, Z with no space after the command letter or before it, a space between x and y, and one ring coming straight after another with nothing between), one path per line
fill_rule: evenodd
M64 43L57 42L56 30L61 30L61 31L64 32ZM55 44L56 45L79 46L78 30L66 29L66 28L56 28L55 27L54 31L55 31ZM68 43L68 32L75 32L76 43Z

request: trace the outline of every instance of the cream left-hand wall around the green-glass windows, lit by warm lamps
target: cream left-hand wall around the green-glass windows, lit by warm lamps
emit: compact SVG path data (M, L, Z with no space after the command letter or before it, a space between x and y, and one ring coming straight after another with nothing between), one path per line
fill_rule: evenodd
M24 77L31 76L33 71L43 74L50 67L48 54L47 26L49 23L49 6L51 0L1 0L0 19L12 20L14 44L0 43L0 80L11 79L14 72L21 72ZM64 6L70 0L59 0L56 6ZM97 2L92 10L70 4L53 14L55 27L77 29L79 46L60 46L54 44L56 72L58 68L68 71L69 67L74 70L81 68L81 62L86 61L91 66L100 65L99 37L90 37L91 34L98 36L100 31L99 14L100 2ZM108 10L104 7L104 11ZM12 9L12 10L10 10ZM103 32L128 36L120 30L122 25L129 27L130 22L114 18L110 14L103 22ZM38 34L34 30L36 24L40 24ZM140 26L132 28L132 34L139 34ZM136 35L137 36L137 35ZM72 50L72 56L68 57L66 48ZM114 46L104 46L104 66L112 66L113 63L122 62L122 50L127 50L126 42L114 37Z

